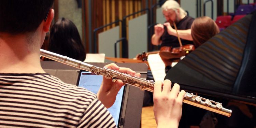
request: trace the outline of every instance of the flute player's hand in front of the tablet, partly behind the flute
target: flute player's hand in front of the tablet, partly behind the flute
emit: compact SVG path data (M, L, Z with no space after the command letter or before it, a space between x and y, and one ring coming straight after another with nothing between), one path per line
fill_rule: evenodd
M112 70L118 70L119 72L127 73L132 76L140 77L140 73L136 73L129 68L120 68L115 63L111 63L109 65L106 65L105 67ZM103 76L103 81L101 83L97 96L106 108L110 108L114 104L116 100L116 95L123 85L124 83L121 80L112 82L112 79L106 79L105 76Z

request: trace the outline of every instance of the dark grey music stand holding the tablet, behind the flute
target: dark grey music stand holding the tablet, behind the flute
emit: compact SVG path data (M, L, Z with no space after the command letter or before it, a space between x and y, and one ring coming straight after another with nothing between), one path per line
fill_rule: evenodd
M90 62L89 64L103 68L109 63ZM130 68L137 73L141 73L142 78L146 78L148 67L145 63L116 63L116 65L119 67ZM73 81L77 82L80 69L68 65L63 65L62 63L55 61L41 61L41 66L45 72L58 77L62 81L71 81L69 83L72 83ZM73 77L69 73L74 73L72 74ZM120 128L140 127L143 98L144 91L141 91L138 87L126 85L125 99L123 102L123 110L121 116L123 124L120 124L122 125Z

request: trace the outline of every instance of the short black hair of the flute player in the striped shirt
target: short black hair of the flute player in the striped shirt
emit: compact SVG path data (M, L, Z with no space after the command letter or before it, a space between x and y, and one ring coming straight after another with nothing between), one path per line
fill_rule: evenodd
M0 32L35 31L46 18L54 0L0 0Z

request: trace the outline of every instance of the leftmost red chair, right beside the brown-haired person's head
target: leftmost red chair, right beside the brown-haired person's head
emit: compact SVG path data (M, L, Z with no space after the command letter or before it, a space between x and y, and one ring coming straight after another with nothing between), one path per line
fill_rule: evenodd
M231 25L231 16L218 16L216 18L215 23L218 25L219 28L227 28Z

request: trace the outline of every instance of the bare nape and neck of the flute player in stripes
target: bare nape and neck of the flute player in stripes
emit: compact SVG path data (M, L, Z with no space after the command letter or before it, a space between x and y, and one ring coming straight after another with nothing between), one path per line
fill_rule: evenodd
M24 35L0 33L0 73L45 73L40 65L40 43Z

